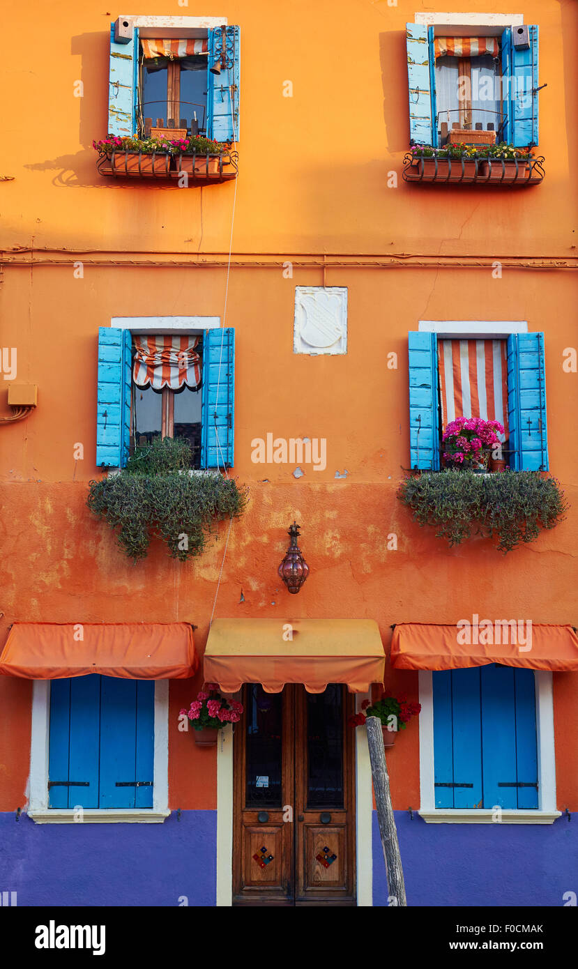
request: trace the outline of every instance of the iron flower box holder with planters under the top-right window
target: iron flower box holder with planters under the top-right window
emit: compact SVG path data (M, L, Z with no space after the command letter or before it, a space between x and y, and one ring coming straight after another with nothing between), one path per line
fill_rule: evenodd
M544 158L443 158L436 155L403 158L403 180L452 185L538 185L544 177Z

